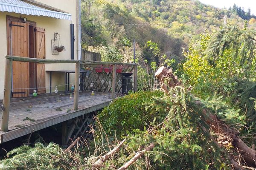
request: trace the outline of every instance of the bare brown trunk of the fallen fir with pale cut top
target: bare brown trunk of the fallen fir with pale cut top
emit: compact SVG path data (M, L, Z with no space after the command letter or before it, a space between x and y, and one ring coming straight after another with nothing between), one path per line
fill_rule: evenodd
M180 82L177 80L177 76L173 75L172 69L167 69L165 67L161 67L156 72L156 77L161 82L161 88L165 91L166 94L169 94L170 88L175 88L177 85L180 85ZM167 81L167 83L165 82ZM167 85L166 85L167 84ZM189 91L189 89L187 89ZM172 94L176 95L176 94ZM224 121L221 120L215 112L211 112L209 109L204 108L204 103L200 99L194 98L194 104L197 108L201 108L201 112L203 113L201 119L206 123L213 132L218 135L218 139L214 139L211 134L209 134L210 139L212 139L216 145L221 148L222 145L230 144L235 149L237 149L239 155L244 161L244 164L247 164L252 167L256 167L256 150L255 145L253 144L252 148L248 147L242 139L238 136L239 130L236 130L233 127L227 125ZM201 128L205 131L208 131L204 125L200 124ZM241 166L234 161L233 156L228 155L228 159L232 164L232 167L235 169L241 169Z

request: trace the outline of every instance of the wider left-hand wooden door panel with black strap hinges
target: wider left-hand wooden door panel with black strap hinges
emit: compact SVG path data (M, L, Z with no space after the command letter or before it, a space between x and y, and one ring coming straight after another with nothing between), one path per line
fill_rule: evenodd
M28 24L11 22L11 55L29 57ZM13 97L29 95L29 63L13 62L12 66Z

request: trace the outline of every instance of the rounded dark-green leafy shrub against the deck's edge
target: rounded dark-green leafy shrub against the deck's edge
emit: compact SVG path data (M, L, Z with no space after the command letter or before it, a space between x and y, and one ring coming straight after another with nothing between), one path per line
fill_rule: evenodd
M126 131L143 130L149 122L160 118L157 110L145 111L143 103L151 102L151 96L163 96L161 91L141 91L115 99L99 113L98 118L107 133L118 136Z

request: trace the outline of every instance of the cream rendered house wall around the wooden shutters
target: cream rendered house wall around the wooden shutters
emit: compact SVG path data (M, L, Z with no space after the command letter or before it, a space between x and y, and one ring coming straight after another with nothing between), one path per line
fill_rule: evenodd
M77 37L77 21L76 9L77 0L37 0L38 2L47 4L49 6L61 9L72 15L72 20L60 20L52 17L20 15L16 13L1 12L0 11L0 99L3 99L3 86L4 86L4 71L5 71L5 56L7 55L7 28L6 28L6 15L13 17L26 17L27 20L36 22L37 27L45 28L45 46L46 46L46 59L70 59L70 23L74 24L74 36ZM52 55L51 40L54 39L54 33L60 34L61 44L66 47L66 51L62 51L59 55ZM74 42L75 56L77 59L77 38ZM75 70L74 64L46 64L47 70ZM71 74L70 74L71 75ZM71 83L74 83L73 75L71 75ZM52 74L52 89L55 85L63 85L59 90L64 90L64 74ZM46 87L49 92L49 73L46 74Z

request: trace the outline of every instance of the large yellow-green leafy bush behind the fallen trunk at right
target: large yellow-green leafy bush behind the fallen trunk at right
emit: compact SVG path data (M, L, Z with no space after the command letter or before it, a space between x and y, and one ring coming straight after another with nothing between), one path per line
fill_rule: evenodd
M253 36L250 31L227 27L201 34L200 40L191 43L184 53L183 72L195 86L193 92L203 98L214 92L232 98L239 82L254 82Z

